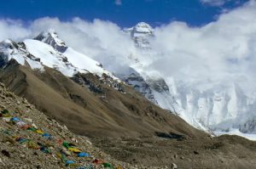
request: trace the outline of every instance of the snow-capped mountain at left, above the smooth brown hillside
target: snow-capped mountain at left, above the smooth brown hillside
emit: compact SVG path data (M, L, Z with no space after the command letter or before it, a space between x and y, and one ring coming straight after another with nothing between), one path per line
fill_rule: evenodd
M52 29L23 42L9 39L1 42L0 56L2 66L10 59L15 59L20 65L29 65L32 69L44 71L44 65L55 68L65 76L90 72L97 76L105 74L117 80L112 73L103 69L99 62L67 47Z

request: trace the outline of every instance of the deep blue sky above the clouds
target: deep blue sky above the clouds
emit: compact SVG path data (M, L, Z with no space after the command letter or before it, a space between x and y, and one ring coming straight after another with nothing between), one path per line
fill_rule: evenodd
M4 2L4 3L3 3ZM218 14L241 6L247 0L8 0L0 6L1 19L29 22L41 17L71 20L110 20L121 27L139 21L150 25L184 21L192 26L216 20ZM202 3L208 2L208 3ZM225 3L224 3L225 2Z

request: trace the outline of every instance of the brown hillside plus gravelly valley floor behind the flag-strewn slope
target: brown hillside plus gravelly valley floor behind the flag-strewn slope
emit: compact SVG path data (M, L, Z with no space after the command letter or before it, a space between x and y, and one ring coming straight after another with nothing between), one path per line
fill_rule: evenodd
M56 70L33 71L15 61L1 70L0 80L119 161L160 168L172 162L178 168L256 168L255 142L212 138L131 87L124 85L122 92L92 74L71 80Z

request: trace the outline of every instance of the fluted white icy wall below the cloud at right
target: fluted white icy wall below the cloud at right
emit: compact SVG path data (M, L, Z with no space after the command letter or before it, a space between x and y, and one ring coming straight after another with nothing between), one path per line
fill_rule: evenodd
M198 121L213 131L228 132L231 128L243 133L255 133L253 104L238 84L212 87L207 90L177 86L173 96L188 116L184 119L193 124ZM250 128L250 129L249 129Z

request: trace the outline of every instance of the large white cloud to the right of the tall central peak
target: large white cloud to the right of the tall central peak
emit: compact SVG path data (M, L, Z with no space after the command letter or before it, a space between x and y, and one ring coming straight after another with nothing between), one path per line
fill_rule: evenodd
M164 55L151 67L165 76L187 80L236 81L243 76L255 81L254 16L256 3L252 1L202 27L183 22L160 26L155 30L154 48Z

